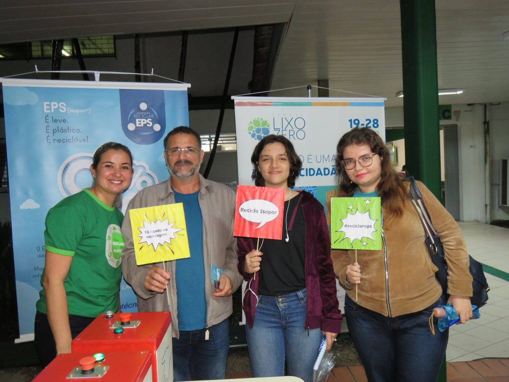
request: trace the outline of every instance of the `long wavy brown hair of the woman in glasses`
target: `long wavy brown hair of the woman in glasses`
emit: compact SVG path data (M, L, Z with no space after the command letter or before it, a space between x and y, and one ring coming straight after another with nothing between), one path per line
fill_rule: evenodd
M355 127L341 137L336 147L336 172L339 177L339 194L342 197L351 197L357 188L357 184L350 181L345 167L341 162L343 152L347 146L367 145L372 153L380 155L382 174L380 182L377 184L377 192L382 199L385 217L401 216L403 214L403 204L405 202L406 189L398 173L390 163L390 154L387 146L375 131L366 127ZM388 216L387 216L388 213Z

